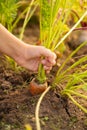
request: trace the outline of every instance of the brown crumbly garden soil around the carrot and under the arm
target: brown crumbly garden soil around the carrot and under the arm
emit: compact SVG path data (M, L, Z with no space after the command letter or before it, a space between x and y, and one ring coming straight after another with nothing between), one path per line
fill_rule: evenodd
M34 28L26 30L24 41L37 41L39 31ZM68 52L65 54L59 62L64 61ZM32 96L29 93L29 82L34 74L24 69L18 71L9 64L0 54L0 130L24 130L25 124L36 130L35 108L40 95ZM70 100L67 107L64 103L66 101L62 101L53 90L46 94L40 107L42 130L87 130L87 115Z

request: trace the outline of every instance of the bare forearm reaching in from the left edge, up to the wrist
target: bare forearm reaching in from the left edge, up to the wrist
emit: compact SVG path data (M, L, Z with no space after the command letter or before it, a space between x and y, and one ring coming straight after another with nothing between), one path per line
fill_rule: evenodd
M24 52L25 44L0 24L0 51L12 58Z

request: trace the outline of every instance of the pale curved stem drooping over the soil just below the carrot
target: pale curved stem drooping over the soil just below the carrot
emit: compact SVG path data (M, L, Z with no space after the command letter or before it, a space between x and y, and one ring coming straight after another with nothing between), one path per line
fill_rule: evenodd
M35 118L36 118L36 128L37 130L41 130L40 127L40 119L39 119L39 109L40 109L40 104L42 102L42 99L44 98L44 96L46 95L46 93L50 90L50 86L42 93L42 95L40 96L37 105L36 105L36 110L35 110Z

